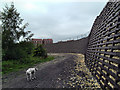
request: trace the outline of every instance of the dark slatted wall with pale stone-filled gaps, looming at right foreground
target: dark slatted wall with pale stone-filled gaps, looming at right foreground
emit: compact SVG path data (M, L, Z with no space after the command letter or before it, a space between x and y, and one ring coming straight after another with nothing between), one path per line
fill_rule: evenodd
M104 89L120 89L120 2L108 2L89 35L85 63Z

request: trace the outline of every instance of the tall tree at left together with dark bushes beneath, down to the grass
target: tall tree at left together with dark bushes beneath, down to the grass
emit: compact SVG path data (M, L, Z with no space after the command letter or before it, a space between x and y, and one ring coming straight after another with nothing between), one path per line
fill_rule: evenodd
M0 19L2 21L2 58L3 60L19 60L26 58L28 53L31 54L32 45L29 44L33 34L31 31L25 31L28 23L22 24L23 19L20 17L20 13L11 3L3 8L0 12ZM22 41L21 41L22 38ZM24 42L24 43L23 43ZM28 42L28 43L27 43ZM24 44L28 45L29 48L23 47Z

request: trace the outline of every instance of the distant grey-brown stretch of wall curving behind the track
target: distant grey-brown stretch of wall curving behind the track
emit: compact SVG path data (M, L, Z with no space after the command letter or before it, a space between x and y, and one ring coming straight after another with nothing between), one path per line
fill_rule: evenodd
M79 40L45 45L48 53L82 53L87 49L88 37Z

